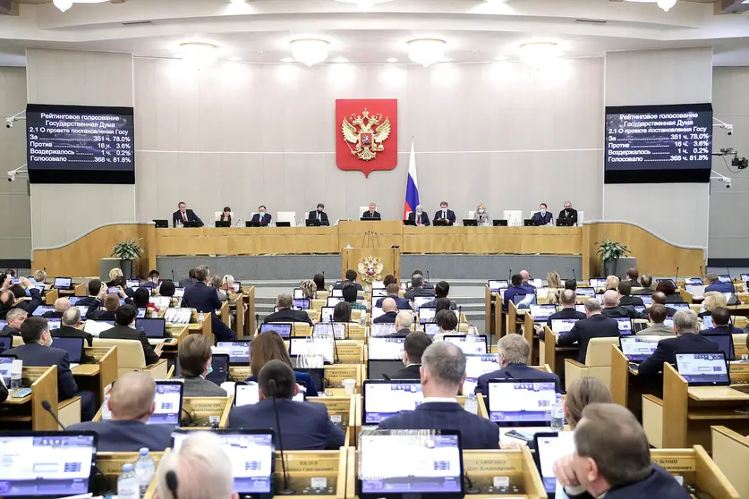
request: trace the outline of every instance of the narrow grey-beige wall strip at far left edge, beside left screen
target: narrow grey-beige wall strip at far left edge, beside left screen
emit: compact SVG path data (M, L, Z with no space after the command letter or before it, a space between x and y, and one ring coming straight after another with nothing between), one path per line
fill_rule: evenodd
M0 116L26 109L26 70L0 67ZM7 182L5 173L26 163L25 122L0 122L0 259L28 260L31 253L29 182Z

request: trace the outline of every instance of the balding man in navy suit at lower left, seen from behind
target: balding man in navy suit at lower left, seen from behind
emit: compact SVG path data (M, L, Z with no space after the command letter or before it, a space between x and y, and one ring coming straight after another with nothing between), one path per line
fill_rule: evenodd
M96 432L99 452L138 452L143 447L150 452L163 452L172 443L174 427L146 424L156 410L155 398L153 377L138 371L125 373L117 378L109 395L112 419L79 423L67 429Z

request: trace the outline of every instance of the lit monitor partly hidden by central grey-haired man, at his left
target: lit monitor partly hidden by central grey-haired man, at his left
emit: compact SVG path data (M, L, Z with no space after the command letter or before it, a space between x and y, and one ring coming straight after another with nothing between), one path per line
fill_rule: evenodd
M418 379L368 379L362 389L362 425L379 425L405 410L414 410L424 400Z

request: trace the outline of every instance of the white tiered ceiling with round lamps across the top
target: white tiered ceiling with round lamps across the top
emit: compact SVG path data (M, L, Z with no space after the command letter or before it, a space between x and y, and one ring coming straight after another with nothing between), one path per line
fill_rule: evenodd
M123 24L133 22L146 23ZM279 63L291 55L289 41L302 36L328 40L330 62L405 63L405 42L429 37L445 39L455 63L512 60L520 44L542 39L569 57L709 46L716 65L749 65L749 14L716 16L712 4L684 1L664 13L608 0L394 0L371 13L333 0L127 0L66 13L22 4L18 16L0 16L0 65L23 65L26 47L174 57L184 41L215 43L222 60Z

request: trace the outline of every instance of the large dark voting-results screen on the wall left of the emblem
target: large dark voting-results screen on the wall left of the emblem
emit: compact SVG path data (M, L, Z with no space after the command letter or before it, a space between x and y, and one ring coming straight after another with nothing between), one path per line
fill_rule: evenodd
M26 107L31 183L135 183L132 107Z

